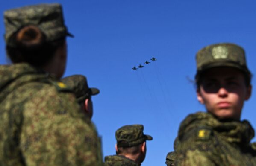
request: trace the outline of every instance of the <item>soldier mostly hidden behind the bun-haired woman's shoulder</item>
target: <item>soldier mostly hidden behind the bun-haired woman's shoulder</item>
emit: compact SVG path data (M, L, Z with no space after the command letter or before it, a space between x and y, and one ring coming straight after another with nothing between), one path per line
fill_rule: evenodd
M68 76L61 81L73 90L82 111L91 119L93 115L91 96L99 94L100 90L89 88L86 77L82 75Z

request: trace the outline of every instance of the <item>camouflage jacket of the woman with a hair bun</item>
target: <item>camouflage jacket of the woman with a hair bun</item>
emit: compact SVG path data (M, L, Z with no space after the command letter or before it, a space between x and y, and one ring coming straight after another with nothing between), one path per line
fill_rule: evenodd
M102 166L100 139L65 84L0 66L0 166Z

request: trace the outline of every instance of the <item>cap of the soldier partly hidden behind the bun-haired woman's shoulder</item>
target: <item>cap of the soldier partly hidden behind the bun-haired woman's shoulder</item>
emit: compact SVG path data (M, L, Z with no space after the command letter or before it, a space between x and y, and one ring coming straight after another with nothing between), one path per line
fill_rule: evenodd
M82 75L68 76L61 81L73 90L78 102L84 102L89 96L100 93L97 88L89 88L86 77Z

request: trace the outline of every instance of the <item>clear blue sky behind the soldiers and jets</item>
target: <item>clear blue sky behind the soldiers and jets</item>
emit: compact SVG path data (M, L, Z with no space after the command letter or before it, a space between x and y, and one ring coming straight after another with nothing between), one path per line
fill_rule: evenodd
M205 111L197 102L195 54L218 42L241 45L256 73L256 1L253 0L1 0L0 13L37 3L62 3L68 38L65 76L83 74L93 97L93 121L103 140L103 155L115 154L115 131L143 124L147 142L142 166L164 166L180 122ZM3 16L0 34L4 34ZM154 56L157 61L143 64ZM0 38L0 64L6 64ZM143 64L139 70L133 66ZM252 80L256 87L255 78ZM256 128L256 90L242 119ZM253 141L256 141L254 138Z

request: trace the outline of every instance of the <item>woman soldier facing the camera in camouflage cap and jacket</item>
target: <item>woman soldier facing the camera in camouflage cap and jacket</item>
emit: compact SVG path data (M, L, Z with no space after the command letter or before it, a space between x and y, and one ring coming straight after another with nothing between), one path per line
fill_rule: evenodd
M244 50L213 44L197 52L197 99L207 112L188 115L178 133L175 166L256 166L254 130L241 121L251 95Z

